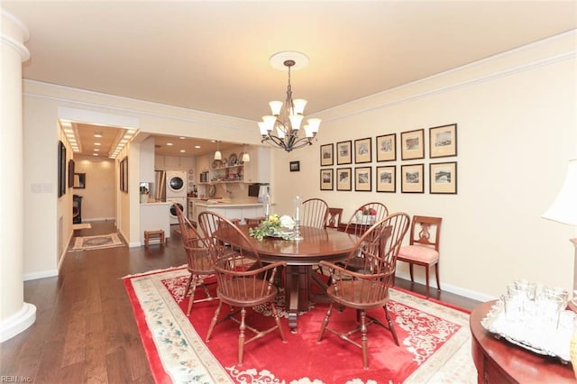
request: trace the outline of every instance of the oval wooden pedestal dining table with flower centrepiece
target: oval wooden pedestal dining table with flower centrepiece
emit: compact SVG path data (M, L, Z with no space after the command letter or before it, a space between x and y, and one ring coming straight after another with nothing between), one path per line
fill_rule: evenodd
M238 228L249 237L249 225L238 225ZM290 331L297 332L298 313L307 312L311 300L316 301L311 289L312 284L318 285L325 292L325 281L319 279L313 272L313 266L319 261L343 261L353 250L358 237L332 228L300 227L302 240L282 240L279 238L264 238L258 241L249 237L259 251L261 261L286 261L285 292L289 312ZM239 234L230 228L222 228L215 232L216 238L222 242L240 246Z

